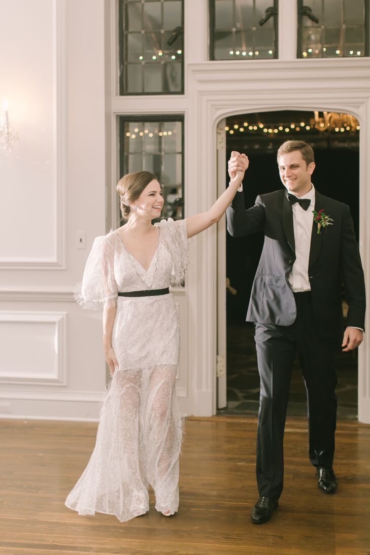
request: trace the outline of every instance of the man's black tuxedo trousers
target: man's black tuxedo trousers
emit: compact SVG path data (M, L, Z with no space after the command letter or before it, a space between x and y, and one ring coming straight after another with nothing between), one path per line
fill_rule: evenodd
M337 344L317 333L310 292L295 294L297 318L291 326L256 324L261 379L257 432L257 484L260 496L278 498L283 489L283 437L296 353L307 390L309 454L313 466L333 466L337 420Z

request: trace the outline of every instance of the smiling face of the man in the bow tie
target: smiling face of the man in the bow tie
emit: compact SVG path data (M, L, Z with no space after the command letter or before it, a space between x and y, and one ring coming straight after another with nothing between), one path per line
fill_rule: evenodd
M299 196L311 190L311 175L315 163L307 165L300 150L282 154L278 159L278 168L282 184L290 193Z

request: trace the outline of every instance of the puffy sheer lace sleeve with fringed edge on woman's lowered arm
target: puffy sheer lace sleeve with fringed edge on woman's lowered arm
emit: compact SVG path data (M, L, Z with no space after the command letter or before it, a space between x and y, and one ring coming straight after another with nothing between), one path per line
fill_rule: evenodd
M114 278L114 243L103 235L94 240L85 266L82 283L77 284L74 298L84 309L98 310L115 306L118 287Z

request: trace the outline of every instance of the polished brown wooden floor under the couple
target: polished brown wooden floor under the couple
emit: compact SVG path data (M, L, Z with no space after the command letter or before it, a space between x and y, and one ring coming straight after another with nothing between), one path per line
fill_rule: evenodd
M341 421L336 495L317 488L306 420L289 420L285 491L270 522L250 522L257 498L255 418L188 418L179 513L130 522L64 506L95 442L91 423L1 421L0 555L368 555L370 426Z

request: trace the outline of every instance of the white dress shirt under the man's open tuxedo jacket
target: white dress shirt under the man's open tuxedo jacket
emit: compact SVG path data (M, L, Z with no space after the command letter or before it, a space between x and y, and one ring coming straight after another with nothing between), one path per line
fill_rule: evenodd
M311 184L312 185L312 184ZM294 193L290 193L294 195ZM295 195L297 196L297 195ZM311 291L308 279L308 259L310 258L313 210L315 210L315 187L300 199L310 199L311 204L303 210L300 204L292 204L296 260L289 275L289 283L294 292Z

